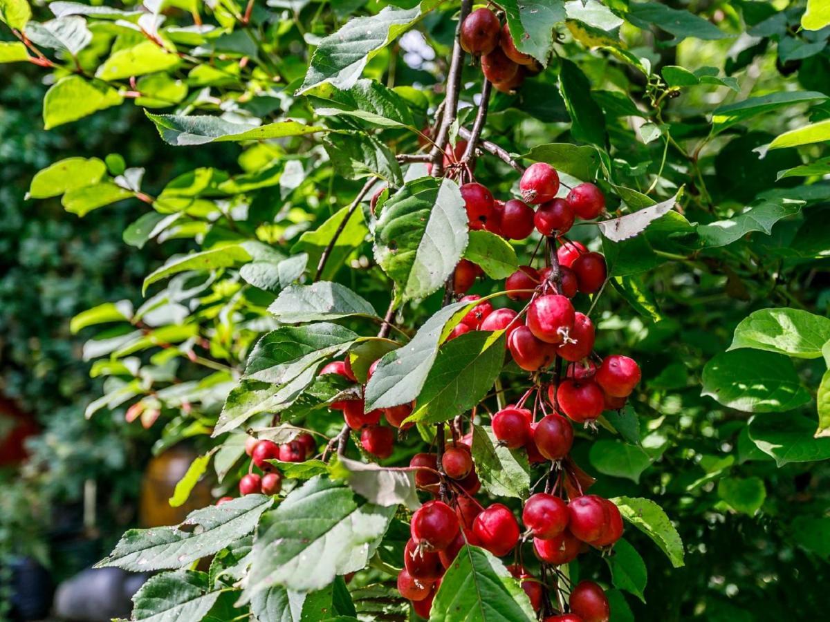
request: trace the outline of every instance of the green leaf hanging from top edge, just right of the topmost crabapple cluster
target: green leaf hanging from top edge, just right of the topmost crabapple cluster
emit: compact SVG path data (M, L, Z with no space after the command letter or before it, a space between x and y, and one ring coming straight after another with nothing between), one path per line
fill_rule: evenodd
M519 51L547 66L554 27L565 21L564 0L501 0L507 26Z

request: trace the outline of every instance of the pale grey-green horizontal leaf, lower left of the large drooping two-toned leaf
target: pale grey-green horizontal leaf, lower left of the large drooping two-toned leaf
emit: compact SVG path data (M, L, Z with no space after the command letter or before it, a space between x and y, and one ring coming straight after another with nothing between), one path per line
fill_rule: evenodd
M352 315L377 317L369 302L345 285L330 281L291 285L282 290L268 311L277 321L285 324L348 318Z

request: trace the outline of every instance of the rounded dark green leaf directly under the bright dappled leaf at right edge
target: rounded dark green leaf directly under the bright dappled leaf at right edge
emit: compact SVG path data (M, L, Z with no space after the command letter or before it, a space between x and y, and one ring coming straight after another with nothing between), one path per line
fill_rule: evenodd
M703 368L702 396L745 412L784 412L810 401L793 362L772 352L720 352Z

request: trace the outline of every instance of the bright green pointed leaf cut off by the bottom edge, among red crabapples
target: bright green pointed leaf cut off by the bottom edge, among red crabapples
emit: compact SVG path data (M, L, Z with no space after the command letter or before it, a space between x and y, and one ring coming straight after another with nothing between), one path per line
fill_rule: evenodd
M496 556L466 545L441 581L432 622L535 620L530 599Z

